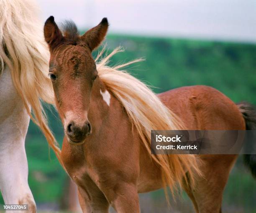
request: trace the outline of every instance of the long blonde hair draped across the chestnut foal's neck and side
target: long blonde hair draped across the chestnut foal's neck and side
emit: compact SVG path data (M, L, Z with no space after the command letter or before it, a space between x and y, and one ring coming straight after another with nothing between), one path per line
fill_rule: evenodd
M110 68L107 66L108 61L122 49L116 48L112 53L101 58L104 50L105 48L95 60L100 80L123 104L131 123L151 155L151 130L182 130L184 125L144 83L126 71L120 70L141 59ZM175 183L182 184L186 172L192 182L193 173L199 173L195 155L151 155L151 157L161 168L164 185L169 186L172 192Z

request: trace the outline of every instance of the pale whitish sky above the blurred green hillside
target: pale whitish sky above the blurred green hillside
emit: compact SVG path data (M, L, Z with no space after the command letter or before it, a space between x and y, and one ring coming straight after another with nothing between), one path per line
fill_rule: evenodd
M256 43L256 0L38 0L42 19L72 19L109 33Z

